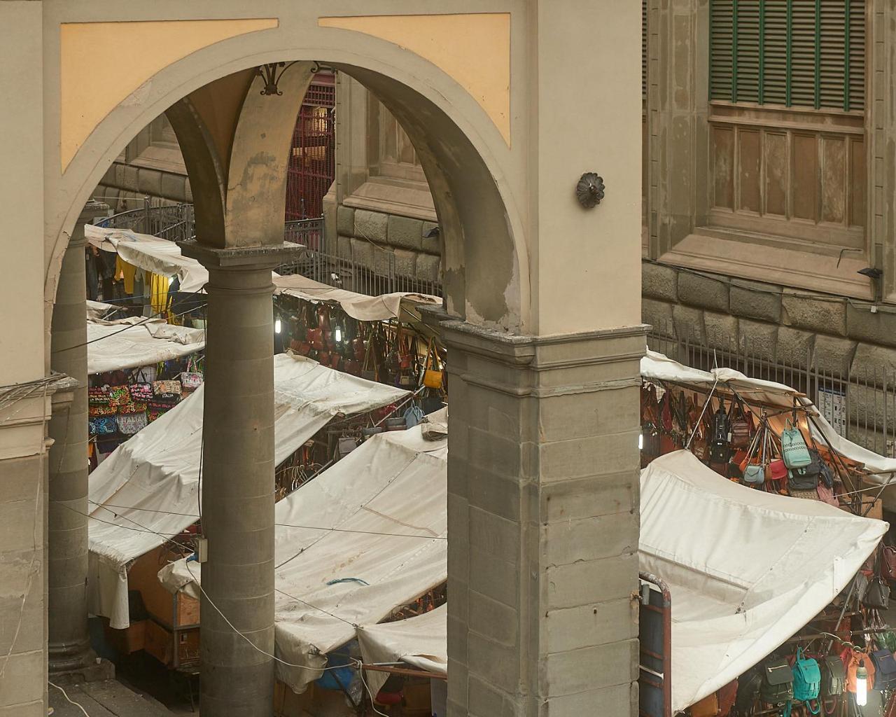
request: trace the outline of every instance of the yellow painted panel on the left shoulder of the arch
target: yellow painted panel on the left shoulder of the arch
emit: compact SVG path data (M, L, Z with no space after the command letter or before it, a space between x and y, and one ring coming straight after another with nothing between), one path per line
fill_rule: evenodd
M278 24L251 18L61 25L62 170L103 118L154 74L196 50Z

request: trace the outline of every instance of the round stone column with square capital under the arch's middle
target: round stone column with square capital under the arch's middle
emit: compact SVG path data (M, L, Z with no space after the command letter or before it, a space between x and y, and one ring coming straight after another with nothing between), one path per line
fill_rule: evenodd
M274 665L271 269L293 245L181 244L209 269L202 532L202 714L270 717ZM220 612L219 612L220 610Z

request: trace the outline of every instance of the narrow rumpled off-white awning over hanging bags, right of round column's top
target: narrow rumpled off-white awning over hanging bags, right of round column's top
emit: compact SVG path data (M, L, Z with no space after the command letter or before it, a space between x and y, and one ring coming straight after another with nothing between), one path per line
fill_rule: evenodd
M399 291L392 294L381 294L370 297L346 289L336 289L319 281L307 279L299 274L278 276L274 279L275 293L290 297L302 298L315 304L328 301L335 302L342 310L358 321L386 321L401 317L401 303L430 304L441 306L442 299L430 294L416 294Z

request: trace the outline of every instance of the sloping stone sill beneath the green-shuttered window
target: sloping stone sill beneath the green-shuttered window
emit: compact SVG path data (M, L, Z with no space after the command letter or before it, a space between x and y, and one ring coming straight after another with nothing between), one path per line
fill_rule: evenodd
M729 229L703 227L661 255L659 261L816 293L874 298L871 281L857 273L868 265L865 256L857 257L854 252L842 257L821 255L774 243L771 237L746 237Z

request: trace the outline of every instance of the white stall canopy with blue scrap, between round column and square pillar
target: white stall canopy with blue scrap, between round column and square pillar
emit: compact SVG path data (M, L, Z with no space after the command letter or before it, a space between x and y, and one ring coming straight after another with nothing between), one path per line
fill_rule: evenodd
M280 659L323 668L356 626L375 625L444 583L447 457L447 437L425 440L420 426L381 433L277 504ZM159 577L195 596L200 570L180 560ZM323 674L280 662L277 669L296 692Z

